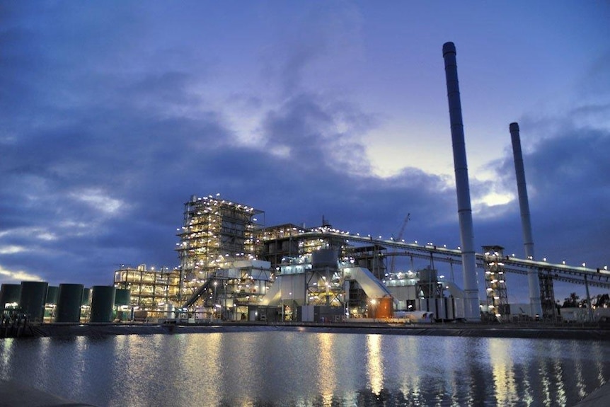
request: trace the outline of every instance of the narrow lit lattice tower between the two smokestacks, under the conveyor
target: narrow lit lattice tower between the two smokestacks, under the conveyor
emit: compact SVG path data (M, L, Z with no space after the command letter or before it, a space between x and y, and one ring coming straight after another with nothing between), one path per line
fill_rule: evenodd
M490 316L499 321L510 315L506 277L504 270L504 248L502 246L483 246L485 256L485 293Z

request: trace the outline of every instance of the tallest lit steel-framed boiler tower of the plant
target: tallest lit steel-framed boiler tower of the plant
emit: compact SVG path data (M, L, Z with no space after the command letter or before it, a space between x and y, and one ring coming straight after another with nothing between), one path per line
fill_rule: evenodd
M229 268L236 259L255 258L255 232L262 227L256 218L263 211L221 200L219 195L196 197L184 204L183 226L176 243L180 257L180 301L190 300L209 286L217 270Z

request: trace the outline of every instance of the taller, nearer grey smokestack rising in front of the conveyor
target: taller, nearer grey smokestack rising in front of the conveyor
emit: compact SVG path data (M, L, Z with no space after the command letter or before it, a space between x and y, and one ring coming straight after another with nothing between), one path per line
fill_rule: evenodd
M462 274L464 275L464 317L467 321L480 321L470 186L468 185L468 166L466 165L466 143L464 142L464 124L461 117L456 47L453 42L445 42L443 45L443 58L445 75L447 76L447 98L449 99L451 141L453 142L456 173Z

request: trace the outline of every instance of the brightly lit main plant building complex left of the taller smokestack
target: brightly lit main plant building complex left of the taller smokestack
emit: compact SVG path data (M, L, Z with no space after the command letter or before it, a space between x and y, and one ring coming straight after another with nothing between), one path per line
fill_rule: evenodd
M130 290L134 316L151 318L364 321L397 311L461 318L463 292L436 270L391 272L384 245L350 243L326 219L319 227L264 227L262 217L219 195L193 195L177 229L180 266L122 267L114 285Z

